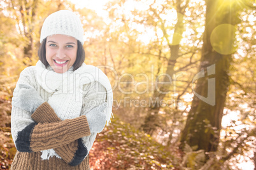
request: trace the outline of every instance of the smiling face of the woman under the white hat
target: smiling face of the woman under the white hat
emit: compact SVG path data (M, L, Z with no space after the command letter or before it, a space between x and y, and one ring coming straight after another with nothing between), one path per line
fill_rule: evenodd
M56 34L46 38L46 61L57 73L67 72L76 61L78 41L71 36Z

